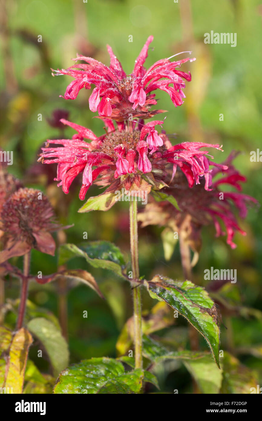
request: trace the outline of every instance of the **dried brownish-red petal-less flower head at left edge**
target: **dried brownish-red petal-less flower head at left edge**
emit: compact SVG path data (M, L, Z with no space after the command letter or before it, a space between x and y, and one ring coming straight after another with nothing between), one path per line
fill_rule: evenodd
M32 248L54 255L56 244L50 232L61 226L55 221L48 198L39 190L24 188L14 192L3 204L0 226L5 232L0 263Z

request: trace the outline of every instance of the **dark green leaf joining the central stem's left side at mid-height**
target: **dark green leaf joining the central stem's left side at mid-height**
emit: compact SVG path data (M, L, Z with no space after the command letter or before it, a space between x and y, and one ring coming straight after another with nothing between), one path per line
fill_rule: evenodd
M109 269L119 277L126 279L122 274L124 257L119 248L109 241L90 241L81 248L74 244L63 244L59 249L58 265L62 266L74 257L84 257L91 266Z

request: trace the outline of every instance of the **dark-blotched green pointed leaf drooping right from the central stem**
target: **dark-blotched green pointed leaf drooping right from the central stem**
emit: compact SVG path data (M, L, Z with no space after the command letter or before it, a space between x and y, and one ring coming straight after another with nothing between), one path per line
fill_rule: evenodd
M191 281L173 281L159 275L144 284L152 298L165 301L204 336L219 367L217 308L206 290Z

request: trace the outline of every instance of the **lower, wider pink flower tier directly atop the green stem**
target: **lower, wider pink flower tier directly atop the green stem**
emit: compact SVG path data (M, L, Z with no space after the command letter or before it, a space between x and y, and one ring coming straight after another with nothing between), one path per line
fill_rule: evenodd
M117 122L115 128L113 122L105 118L106 134L100 137L85 127L61 121L78 134L72 139L49 140L47 147L42 148L39 160L58 164L56 180L65 193L69 192L72 181L79 173L82 173L81 200L94 182L102 187L108 186L106 192L114 192L121 187L150 192L151 187L160 189L168 186L177 167L181 168L190 185L199 183L199 178L204 177L205 188L209 189L212 180L209 165L216 164L205 156L208 151L200 148L220 149L219 145L185 142L172 147L167 135L156 131L156 125L163 123L159 120L147 124L143 120L133 121L132 125ZM91 142L87 143L84 138ZM61 146L53 148L50 144Z

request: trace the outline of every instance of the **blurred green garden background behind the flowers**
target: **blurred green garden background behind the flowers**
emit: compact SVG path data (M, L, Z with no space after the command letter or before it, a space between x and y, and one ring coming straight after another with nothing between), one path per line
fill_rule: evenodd
M101 120L93 118L95 114L88 107L90 91L80 91L75 101L59 98L64 95L71 78L52 77L50 67L69 67L71 58L77 53L93 56L108 65L106 44L111 45L127 74L132 72L135 58L149 35L153 35L154 40L147 67L180 51L193 51L196 61L182 69L190 69L192 74L192 81L185 88L185 103L175 108L166 93L157 92L158 107L168 111L164 114L167 115L164 129L170 135L176 133L170 138L173 143L223 144L224 152L214 152L216 162L225 160L232 149L241 151L235 165L247 177L243 192L260 201L261 163L250 162L250 152L261 147L262 139L259 115L262 105L262 78L259 75L262 5L259 1L88 0L83 3L82 0L2 0L0 8L0 147L14 151L14 162L8 171L22 179L27 187L46 192L61 222L74 224L66 231L67 242L81 242L83 231L86 231L89 240L110 240L128 253L128 210L124 203L106 213L79 214L78 185L69 197L65 197L56 183L48 180L47 170L50 179L55 176L54 166L48 165L43 170L41 164L36 164L43 142L61 136L59 129L50 127L47 120L55 109L67 110L68 120L90 128L98 136L103 133ZM204 33L211 30L236 32L237 46L204 44ZM129 42L130 35L132 42ZM221 113L223 121L219 118ZM39 114L42 121L38 120ZM71 128L66 128L64 136L70 138L73 133ZM45 172L41 174L41 171ZM96 187L90 189L92 196L98 192ZM236 250L230 249L224 237L214 239L213 228L204 229L201 255L193 269L193 281L199 285L205 285L205 268L237 269L237 283L226 286L221 292L227 302L238 309L236 314L224 309L222 321L228 329L224 325L221 327L221 349L229 349L245 365L257 370L260 384L262 317L260 312L245 309L262 307L261 221L261 208L250 209L246 220L241 222L247 236L236 234ZM178 247L166 262L161 231L156 227L140 229L140 273L146 279L156 273L182 279ZM16 264L21 265L21 258ZM81 259L70 265L87 268ZM36 274L40 270L43 274L55 272L56 257L34 250L31 272ZM132 315L129 285L115 279L111 273L105 274L98 269L93 269L92 273L106 301L101 301L85 286L68 286L71 362L94 356L115 356L117 337ZM58 292L61 290L55 284L31 284L29 298L58 316ZM19 283L15 280L6 283L5 294L7 298L17 298ZM143 309L150 309L153 304L156 303L144 293ZM82 317L84 310L88 312L87 319ZM7 317L12 325L14 316L8 314ZM183 329L186 322L180 319L176 322L177 328ZM201 340L201 346L207 348L204 340ZM260 349L260 353L254 349ZM48 370L46 361L37 361L37 364L42 370ZM191 390L190 376L183 368L165 367L161 376L164 392L172 392L174 378L180 393Z

